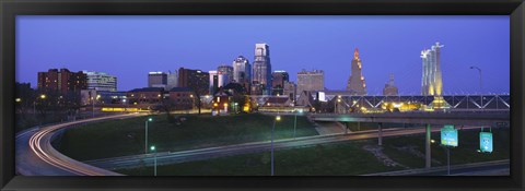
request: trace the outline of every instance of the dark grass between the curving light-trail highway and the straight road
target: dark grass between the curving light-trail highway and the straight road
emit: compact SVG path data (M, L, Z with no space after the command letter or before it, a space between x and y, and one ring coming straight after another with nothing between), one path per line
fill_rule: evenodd
M149 144L158 152L176 152L246 142L268 141L275 117L259 114L212 117L189 115L182 123L170 123L165 115L152 116ZM59 151L79 160L144 153L144 121L148 117L112 120L67 130ZM281 116L276 140L293 136L293 116ZM298 117L296 136L317 135L314 126Z

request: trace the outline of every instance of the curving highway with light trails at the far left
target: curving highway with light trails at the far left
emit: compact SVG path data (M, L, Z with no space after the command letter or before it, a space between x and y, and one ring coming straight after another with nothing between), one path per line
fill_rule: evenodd
M51 138L57 131L78 124L137 116L140 115L106 116L24 131L18 134L15 140L16 172L27 176L120 176L119 174L93 167L60 154L51 146Z

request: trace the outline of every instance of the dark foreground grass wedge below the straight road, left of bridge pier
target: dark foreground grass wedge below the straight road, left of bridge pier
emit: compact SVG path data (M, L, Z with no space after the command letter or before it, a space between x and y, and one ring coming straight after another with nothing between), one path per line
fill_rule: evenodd
M276 176L347 176L398 170L383 165L362 146L370 140L275 152ZM158 176L269 176L270 152L245 154L158 167ZM152 176L153 167L120 169L131 176Z

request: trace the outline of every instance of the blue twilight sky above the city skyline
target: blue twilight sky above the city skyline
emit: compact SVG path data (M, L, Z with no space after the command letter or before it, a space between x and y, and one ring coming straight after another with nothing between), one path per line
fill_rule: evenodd
M510 92L509 16L33 16L16 17L16 77L36 86L38 71L107 72L118 91L147 86L149 71L217 70L270 46L272 70L295 82L325 71L325 86L346 88L359 48L369 95L393 73L400 94L420 94L420 52L436 41L445 94Z

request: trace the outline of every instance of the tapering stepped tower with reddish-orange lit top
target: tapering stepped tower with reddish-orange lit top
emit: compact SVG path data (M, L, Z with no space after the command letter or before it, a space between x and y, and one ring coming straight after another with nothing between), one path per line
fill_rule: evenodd
M350 91L352 95L366 95L366 84L364 83L364 76L361 72L361 68L362 65L361 59L359 58L359 50L355 48L351 63L351 74L347 84L347 91Z

